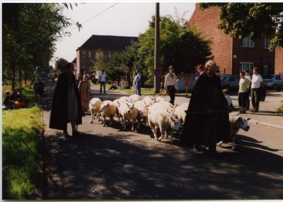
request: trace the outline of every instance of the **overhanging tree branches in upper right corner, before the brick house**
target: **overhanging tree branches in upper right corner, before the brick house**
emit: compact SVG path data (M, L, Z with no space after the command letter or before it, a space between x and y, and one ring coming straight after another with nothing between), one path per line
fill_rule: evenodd
M232 37L253 35L272 37L270 49L283 47L283 4L282 3L209 3L200 8L219 8L221 23L219 28ZM276 29L276 31L275 31Z

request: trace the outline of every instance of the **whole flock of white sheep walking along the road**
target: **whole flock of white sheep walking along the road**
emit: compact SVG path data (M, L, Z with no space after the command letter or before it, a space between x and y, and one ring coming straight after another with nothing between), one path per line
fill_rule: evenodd
M91 124L95 117L100 121L100 116L103 117L103 126L105 126L106 117L109 117L109 125L112 126L114 116L122 125L122 129L126 130L127 125L137 125L137 130L141 124L149 124L151 131L154 133L154 138L161 141L164 136L168 136L172 131L180 131L182 124L185 121L185 116L189 102L182 105L172 105L159 96L146 96L141 100L141 96L134 94L129 97L123 96L119 99L110 101L101 101L98 97L94 97L89 102L91 112ZM236 114L230 114L231 137L234 137L239 129L248 131L248 119L238 117ZM161 136L158 138L158 130ZM220 143L221 145L221 143ZM234 146L234 143L233 143Z

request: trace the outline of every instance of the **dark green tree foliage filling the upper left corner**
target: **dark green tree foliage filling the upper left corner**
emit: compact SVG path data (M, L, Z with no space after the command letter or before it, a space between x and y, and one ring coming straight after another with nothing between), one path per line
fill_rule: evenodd
M3 4L3 80L4 83L31 78L35 66L50 71L49 61L58 37L69 19L57 4Z

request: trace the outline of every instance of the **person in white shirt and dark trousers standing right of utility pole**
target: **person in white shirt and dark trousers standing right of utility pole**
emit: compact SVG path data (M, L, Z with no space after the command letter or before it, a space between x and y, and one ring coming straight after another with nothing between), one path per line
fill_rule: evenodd
M166 90L166 94L169 94L170 96L170 102L172 105L174 105L175 101L175 84L177 81L177 76L174 73L173 65L169 66L169 73L166 74L165 76L165 81L164 81L164 86Z

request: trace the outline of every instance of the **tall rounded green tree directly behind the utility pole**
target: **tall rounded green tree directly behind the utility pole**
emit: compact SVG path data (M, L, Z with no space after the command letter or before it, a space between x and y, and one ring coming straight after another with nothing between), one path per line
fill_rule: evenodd
M153 83L154 78L154 17L149 22L149 29L139 36L138 61L146 67L141 71ZM204 40L200 33L187 28L187 21L161 16L160 20L160 55L161 68L167 71L173 64L177 73L191 73L193 67L203 63L211 55L209 40Z

